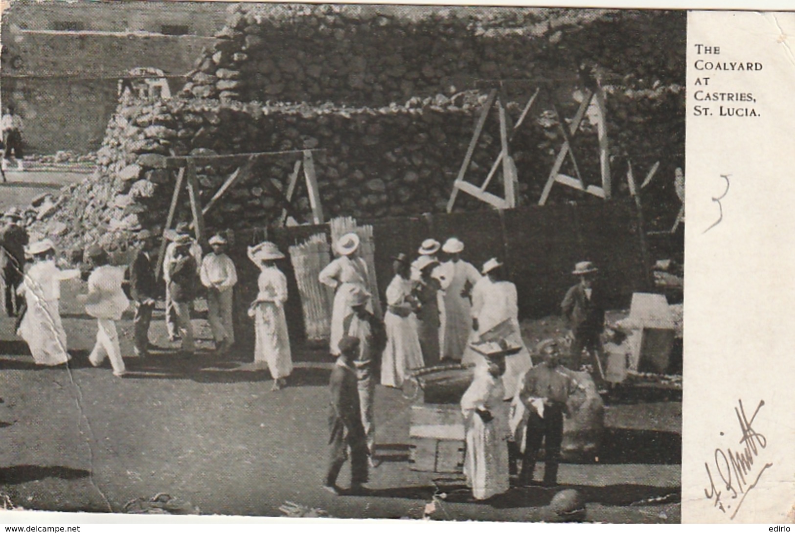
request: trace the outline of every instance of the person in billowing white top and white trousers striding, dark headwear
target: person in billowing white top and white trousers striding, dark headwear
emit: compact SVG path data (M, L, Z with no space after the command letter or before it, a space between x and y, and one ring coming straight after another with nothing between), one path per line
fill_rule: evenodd
M118 345L116 321L121 320L122 313L130 307L130 301L122 290L124 270L109 265L110 257L101 246L90 246L86 256L93 271L88 276L88 294L78 295L78 301L85 304L87 315L97 319L98 326L96 344L88 361L99 366L107 356L111 360L113 375L122 377L126 369Z

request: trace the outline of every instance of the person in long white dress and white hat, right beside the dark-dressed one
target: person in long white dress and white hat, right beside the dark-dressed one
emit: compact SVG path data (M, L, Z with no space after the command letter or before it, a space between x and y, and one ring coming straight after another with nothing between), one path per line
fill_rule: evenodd
M480 280L480 273L461 259L463 242L458 238L448 238L442 252L448 261L437 271L442 289L440 353L443 361L460 361L471 331L471 290Z

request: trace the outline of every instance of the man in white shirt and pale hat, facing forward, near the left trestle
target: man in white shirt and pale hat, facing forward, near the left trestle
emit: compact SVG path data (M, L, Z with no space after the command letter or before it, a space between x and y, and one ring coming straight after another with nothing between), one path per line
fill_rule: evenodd
M214 235L210 245L212 252L202 260L200 278L207 288L207 320L215 339L215 349L223 353L235 343L232 288L238 282L238 272L226 254L227 239L223 235Z

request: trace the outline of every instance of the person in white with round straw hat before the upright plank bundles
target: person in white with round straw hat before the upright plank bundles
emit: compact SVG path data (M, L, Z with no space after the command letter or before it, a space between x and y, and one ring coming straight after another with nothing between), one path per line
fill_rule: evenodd
M343 320L351 313L347 305L348 295L355 289L365 292L370 288L370 272L367 264L359 255L359 235L344 234L336 243L334 261L320 271L317 276L321 284L335 290L334 307L332 307L332 331L329 339L329 350L333 356L339 355L339 339L343 338ZM373 311L372 302L367 303L367 311Z

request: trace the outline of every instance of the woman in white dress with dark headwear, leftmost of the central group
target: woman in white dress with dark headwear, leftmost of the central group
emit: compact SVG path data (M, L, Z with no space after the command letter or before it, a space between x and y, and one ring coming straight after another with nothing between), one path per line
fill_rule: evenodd
M424 363L414 315L417 299L411 294L411 262L405 253L394 257L393 268L395 276L386 288L386 348L381 360L381 384L400 387L408 371L421 369Z

